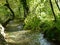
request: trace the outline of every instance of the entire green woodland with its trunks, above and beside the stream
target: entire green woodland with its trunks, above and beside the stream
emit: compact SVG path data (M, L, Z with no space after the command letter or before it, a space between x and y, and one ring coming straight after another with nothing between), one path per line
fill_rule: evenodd
M55 0L0 0L0 23L6 28L10 21L22 22L24 30L60 42L59 8Z

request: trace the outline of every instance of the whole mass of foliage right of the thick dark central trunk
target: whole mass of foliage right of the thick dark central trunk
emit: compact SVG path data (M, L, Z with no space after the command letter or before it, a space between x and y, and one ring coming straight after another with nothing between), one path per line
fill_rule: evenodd
M36 1L36 0L34 0ZM60 41L60 13L57 9L55 1L52 1L54 12L57 18L57 21L54 22L53 12L50 7L49 0L45 1L36 1L34 2L29 0L28 5L30 6L31 15L27 16L25 19L25 29L39 30L45 33L45 37L50 40L59 40ZM28 2L28 1L27 1ZM34 2L34 3L33 3ZM39 3L40 2L40 3ZM36 16L37 15L37 16ZM33 16L38 18L38 21ZM35 19L35 21L33 21ZM36 25L37 23L37 25ZM56 29L54 29L56 27Z

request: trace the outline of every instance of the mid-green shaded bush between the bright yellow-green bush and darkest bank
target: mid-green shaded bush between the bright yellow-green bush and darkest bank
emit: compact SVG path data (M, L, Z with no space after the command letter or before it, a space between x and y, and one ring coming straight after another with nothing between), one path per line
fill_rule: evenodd
M49 31L51 28L54 27L53 21L44 21L40 24L41 31L44 33L45 31Z

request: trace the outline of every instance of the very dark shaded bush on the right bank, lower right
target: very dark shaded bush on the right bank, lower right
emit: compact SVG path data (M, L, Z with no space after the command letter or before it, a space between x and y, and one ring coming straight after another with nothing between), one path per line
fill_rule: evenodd
M60 41L60 21L57 20L52 28L45 32L45 37L50 41Z

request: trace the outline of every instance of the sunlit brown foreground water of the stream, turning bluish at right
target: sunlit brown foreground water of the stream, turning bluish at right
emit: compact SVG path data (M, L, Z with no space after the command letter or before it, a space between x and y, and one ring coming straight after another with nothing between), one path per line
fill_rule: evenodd
M20 30L21 27L23 26L13 26L13 30L15 30L13 31L11 26L11 32L6 32L6 41L9 45L53 45L43 37L44 34L30 30Z

